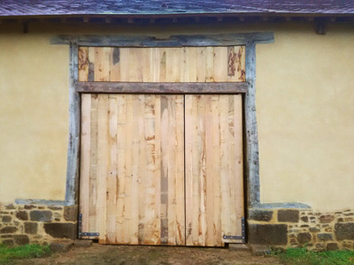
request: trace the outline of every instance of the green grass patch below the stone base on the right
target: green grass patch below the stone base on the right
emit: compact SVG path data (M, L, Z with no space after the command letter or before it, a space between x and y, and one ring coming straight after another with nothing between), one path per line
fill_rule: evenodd
M354 251L348 250L314 252L306 248L288 248L286 251L272 251L272 255L287 265L354 264Z

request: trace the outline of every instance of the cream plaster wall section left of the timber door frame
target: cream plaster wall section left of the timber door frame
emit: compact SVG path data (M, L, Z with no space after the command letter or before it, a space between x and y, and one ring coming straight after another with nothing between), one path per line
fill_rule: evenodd
M0 34L0 201L64 200L68 48Z

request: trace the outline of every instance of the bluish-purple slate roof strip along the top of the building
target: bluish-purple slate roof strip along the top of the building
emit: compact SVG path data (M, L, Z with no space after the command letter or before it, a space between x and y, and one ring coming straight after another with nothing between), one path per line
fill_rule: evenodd
M354 0L0 0L0 16L195 13L354 14Z

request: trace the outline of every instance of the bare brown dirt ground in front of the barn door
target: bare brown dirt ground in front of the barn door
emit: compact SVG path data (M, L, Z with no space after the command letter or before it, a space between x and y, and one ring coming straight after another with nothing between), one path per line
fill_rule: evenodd
M226 248L180 246L104 246L73 247L65 254L15 261L13 264L117 264L117 265L279 265L273 257L252 256Z

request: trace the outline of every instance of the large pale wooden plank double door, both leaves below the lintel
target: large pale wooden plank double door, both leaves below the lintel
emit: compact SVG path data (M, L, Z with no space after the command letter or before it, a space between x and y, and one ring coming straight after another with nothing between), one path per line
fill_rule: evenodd
M241 95L81 99L81 231L102 244L242 241L224 239L242 234Z

